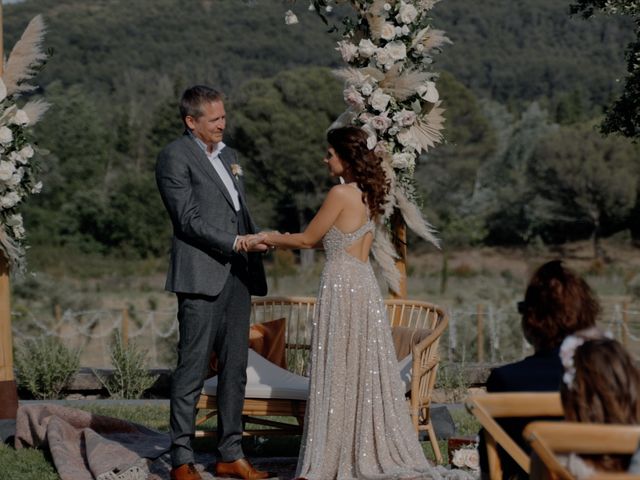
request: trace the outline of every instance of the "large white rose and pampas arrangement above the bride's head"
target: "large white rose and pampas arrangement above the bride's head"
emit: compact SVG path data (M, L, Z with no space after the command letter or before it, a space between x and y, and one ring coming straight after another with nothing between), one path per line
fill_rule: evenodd
M432 28L429 11L438 0L313 0L310 9L326 21L332 4L350 3L355 20L345 26L337 50L347 68L336 72L345 81L348 109L333 126L353 124L369 136L369 148L382 158L391 184L385 204L385 220L399 211L407 226L438 245L434 229L418 208L413 184L416 160L442 141L443 109L436 88L438 74L431 70L434 55L451 43L442 30ZM285 14L285 23L298 18ZM379 232L380 233L380 232ZM397 290L399 276L388 238L379 242L374 255L390 286Z

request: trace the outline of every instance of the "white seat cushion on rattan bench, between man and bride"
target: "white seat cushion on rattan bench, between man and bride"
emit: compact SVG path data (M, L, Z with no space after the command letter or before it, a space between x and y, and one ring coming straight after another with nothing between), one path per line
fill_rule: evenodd
M218 376L204 382L202 393L216 394ZM309 394L309 379L280 368L261 355L249 349L247 362L246 398L282 398L306 400Z

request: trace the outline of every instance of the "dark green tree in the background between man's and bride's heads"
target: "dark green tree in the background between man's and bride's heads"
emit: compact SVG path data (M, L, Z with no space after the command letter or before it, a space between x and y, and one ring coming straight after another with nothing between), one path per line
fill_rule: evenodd
M263 226L303 229L327 191L325 133L342 112L326 68L299 68L241 86L231 99L230 142L245 158L252 211Z

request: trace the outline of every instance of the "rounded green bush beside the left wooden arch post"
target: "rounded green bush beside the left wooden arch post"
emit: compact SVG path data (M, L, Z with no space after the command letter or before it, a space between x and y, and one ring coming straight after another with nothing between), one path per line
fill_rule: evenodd
M18 385L37 399L58 398L78 370L80 352L67 348L59 339L28 340L16 349Z

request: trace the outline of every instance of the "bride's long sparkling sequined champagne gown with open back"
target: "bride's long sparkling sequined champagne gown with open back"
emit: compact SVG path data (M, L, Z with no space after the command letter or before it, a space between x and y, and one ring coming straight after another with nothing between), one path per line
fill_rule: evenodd
M441 478L411 424L380 287L346 252L366 233L323 239L311 339L309 398L296 476L309 480Z

